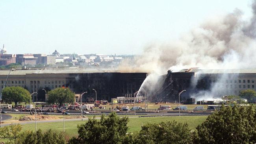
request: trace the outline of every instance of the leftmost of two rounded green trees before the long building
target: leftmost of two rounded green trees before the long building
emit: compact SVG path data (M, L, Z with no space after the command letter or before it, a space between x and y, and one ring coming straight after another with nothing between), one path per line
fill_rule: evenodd
M15 103L15 107L18 102L29 102L30 92L23 87L6 87L2 92L2 99L7 102Z

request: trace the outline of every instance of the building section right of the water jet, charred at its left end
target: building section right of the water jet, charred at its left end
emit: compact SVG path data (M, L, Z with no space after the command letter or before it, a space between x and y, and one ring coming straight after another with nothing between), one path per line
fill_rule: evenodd
M239 95L241 90L256 90L256 70L201 70L190 68L179 72L168 71L162 87L153 94L153 101L177 102L178 93L181 101L197 97L200 91L208 91L211 97L221 98L225 95Z

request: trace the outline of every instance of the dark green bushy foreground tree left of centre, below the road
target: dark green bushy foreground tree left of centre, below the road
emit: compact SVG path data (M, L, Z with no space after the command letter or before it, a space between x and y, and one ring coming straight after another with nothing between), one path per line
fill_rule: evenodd
M122 144L127 143L128 118L117 116L116 113L108 117L102 115L100 120L89 120L78 126L78 138L71 138L69 144Z

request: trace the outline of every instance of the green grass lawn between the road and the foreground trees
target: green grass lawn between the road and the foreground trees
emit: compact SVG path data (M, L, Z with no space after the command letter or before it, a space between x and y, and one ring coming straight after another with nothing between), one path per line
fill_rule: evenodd
M129 132L139 131L142 124L147 123L159 123L176 120L178 122L187 122L189 128L195 130L198 124L201 124L207 116L168 116L168 117L146 117L146 118L129 118ZM78 135L77 126L84 124L86 121L72 121L65 122L65 131L71 137ZM35 130L35 124L22 125L23 130ZM63 131L63 122L49 122L49 123L37 123L37 129L42 129L43 131L48 129L54 129L56 131Z

